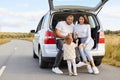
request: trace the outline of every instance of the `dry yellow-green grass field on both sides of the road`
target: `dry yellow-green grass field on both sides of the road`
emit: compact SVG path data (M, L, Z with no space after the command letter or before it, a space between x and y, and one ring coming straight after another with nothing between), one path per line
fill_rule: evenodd
M32 33L0 33L0 44L4 44L13 39L32 41ZM120 67L120 35L105 35L106 52L103 62Z

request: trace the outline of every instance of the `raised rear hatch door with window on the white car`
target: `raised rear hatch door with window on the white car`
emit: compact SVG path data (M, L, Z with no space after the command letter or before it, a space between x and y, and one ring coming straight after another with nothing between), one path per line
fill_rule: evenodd
M49 0L50 10L98 11L108 0Z

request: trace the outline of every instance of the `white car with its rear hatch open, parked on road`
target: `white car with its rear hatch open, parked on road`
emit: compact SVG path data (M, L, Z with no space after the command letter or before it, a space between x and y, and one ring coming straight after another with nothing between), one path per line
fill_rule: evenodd
M50 10L41 18L33 39L33 57L39 58L39 66L45 68L54 62L58 49L56 47L55 27L65 20L68 14L74 15L77 24L79 15L85 15L91 26L94 47L91 50L95 65L99 66L105 55L105 37L97 14L108 0L48 0Z

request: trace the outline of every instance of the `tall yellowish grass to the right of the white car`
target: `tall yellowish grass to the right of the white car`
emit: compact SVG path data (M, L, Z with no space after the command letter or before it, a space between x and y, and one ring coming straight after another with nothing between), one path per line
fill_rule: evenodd
M103 62L120 67L120 36L106 35L105 41L106 52Z

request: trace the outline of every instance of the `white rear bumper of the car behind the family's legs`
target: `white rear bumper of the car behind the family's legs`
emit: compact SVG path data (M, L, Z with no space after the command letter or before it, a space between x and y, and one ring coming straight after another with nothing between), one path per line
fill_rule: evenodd
M44 45L44 47L42 48L43 60L47 62L54 62L57 52L58 51L56 45L47 45L47 46ZM105 50L94 49L91 50L90 53L92 54L94 60L101 60L105 55Z

